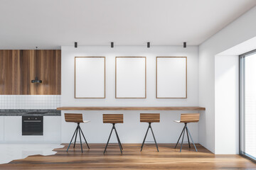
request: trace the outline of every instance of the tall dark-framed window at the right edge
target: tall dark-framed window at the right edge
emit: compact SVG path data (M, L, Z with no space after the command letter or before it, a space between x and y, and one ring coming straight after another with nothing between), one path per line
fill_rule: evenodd
M256 161L256 50L240 55L240 154Z

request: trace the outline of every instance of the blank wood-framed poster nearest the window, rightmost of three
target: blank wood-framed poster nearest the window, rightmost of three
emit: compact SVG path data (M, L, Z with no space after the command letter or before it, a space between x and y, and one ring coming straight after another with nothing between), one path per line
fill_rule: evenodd
M187 98L187 57L156 57L156 98Z

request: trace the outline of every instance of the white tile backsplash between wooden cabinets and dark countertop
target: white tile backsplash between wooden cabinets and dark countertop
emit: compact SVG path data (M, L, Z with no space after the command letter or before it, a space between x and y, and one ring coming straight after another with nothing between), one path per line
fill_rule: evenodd
M0 95L0 109L55 109L60 95Z

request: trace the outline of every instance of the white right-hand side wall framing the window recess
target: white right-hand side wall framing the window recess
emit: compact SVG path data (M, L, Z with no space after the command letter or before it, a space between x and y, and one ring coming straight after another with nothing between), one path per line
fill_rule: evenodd
M199 106L206 107L206 113L201 114L201 121L199 122L199 142L211 152L218 151L219 148L224 148L224 153L228 152L228 149L225 150L228 148L228 143L224 145L218 141L222 139L215 139L217 133L221 133L215 131L215 123L222 126L223 130L229 127L229 124L223 124L221 120L216 120L220 117L215 116L215 55L254 38L256 36L255 16L256 7L247 11L199 46L198 86L200 90L198 103Z

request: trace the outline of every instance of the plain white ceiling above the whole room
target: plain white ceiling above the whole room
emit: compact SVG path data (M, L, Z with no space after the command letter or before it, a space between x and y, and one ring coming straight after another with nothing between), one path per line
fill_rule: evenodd
M255 0L0 0L0 49L200 45Z

